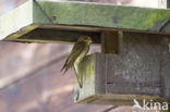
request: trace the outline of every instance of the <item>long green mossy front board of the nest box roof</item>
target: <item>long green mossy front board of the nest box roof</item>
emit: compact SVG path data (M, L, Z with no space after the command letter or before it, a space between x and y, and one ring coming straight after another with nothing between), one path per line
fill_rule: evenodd
M170 16L169 10L158 9L76 2L38 1L38 3L49 18L56 16L53 24L155 30L153 28L157 22Z

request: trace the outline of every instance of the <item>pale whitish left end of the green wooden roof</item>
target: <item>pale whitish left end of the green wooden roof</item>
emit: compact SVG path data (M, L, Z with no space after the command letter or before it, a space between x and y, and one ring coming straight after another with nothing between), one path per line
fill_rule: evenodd
M17 16L16 16L17 15ZM40 8L33 0L28 0L11 12L0 17L0 39L10 36L11 39L21 37L38 27L37 24L51 22L41 12Z

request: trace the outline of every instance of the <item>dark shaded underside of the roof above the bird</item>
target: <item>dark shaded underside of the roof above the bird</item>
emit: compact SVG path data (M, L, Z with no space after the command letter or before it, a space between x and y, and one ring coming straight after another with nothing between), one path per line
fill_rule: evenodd
M81 35L86 35L93 38L94 43L100 43L99 32L81 32L70 29L52 29L52 28L37 28L29 34L22 36L20 39L29 40L50 40L51 42L74 42Z

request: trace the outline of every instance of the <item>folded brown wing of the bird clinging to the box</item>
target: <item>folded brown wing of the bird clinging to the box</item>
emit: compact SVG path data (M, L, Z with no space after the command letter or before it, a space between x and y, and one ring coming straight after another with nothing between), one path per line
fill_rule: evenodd
M80 54L86 49L87 43L84 41L76 42L66 60L66 64L72 66Z

